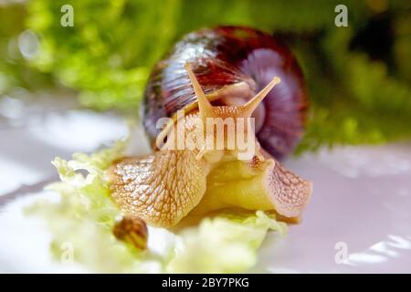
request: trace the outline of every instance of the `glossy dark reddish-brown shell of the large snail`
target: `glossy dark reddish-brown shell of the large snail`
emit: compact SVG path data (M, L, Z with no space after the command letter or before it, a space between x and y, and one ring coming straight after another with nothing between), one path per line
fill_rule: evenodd
M184 36L153 68L142 107L143 125L154 141L156 121L172 117L195 103L195 93L184 64L192 64L205 93L241 82L250 99L274 76L281 78L275 91L256 111L257 138L262 148L277 159L290 153L303 133L308 107L301 70L290 50L273 36L258 30L219 26ZM214 99L218 105L235 105L233 99ZM259 120L259 121L258 121Z

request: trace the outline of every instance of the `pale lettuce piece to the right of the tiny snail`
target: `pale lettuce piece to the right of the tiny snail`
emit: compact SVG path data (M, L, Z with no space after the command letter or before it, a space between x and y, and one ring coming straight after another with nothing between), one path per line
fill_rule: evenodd
M256 264L257 250L269 229L283 235L287 225L262 211L205 218L184 230L167 271L171 273L239 273Z

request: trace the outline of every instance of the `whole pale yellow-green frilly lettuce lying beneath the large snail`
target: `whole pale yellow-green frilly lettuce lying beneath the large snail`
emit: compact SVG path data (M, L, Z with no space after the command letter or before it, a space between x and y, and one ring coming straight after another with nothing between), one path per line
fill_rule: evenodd
M120 141L111 149L52 162L61 182L47 190L59 193L60 200L38 201L26 211L47 221L51 251L61 262L72 260L102 273L236 273L256 264L258 247L270 229L285 233L286 224L272 214L226 211L178 231L149 226L148 250L126 245L111 232L121 211L105 177L125 146Z

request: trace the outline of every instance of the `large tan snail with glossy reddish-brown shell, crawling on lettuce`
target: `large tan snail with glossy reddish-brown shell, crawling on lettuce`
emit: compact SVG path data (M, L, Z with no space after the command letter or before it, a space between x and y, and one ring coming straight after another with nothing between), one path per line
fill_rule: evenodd
M299 218L312 183L278 159L299 141L307 106L300 68L273 36L239 26L188 34L148 80L142 121L153 153L111 166L111 196L125 214L166 227L188 214L225 208ZM170 119L159 129L164 117ZM216 129L205 130L210 119L233 120L233 129L253 145L252 155L240 157L227 124L217 149ZM177 147L170 137L178 129L198 147Z

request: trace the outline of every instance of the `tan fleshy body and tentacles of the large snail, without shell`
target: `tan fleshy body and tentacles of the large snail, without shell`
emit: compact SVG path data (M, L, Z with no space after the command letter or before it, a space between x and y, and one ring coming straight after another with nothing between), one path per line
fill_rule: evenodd
M230 27L228 29L237 29ZM190 81L195 100L184 95L185 100L191 100L190 103L176 109L184 110L183 118L178 118L176 113L169 115L172 119L162 131L156 133L153 154L142 158L124 158L114 163L109 170L114 201L125 214L141 218L147 224L166 227L178 224L190 213L206 214L225 208L276 211L284 217L299 217L309 202L311 182L281 166L272 156L274 148L269 152L261 147L256 128L250 127L250 118L255 116L256 111L261 111L263 101L277 89L279 77L271 76L258 93L251 89L254 86L251 81L246 82L244 78L205 92L190 66L193 59L187 58L180 60L184 73L179 71L179 74L184 74ZM198 58L196 60L200 62ZM197 63L192 64L198 66ZM149 92L153 86L150 82ZM181 90L191 92L186 88ZM152 98L150 94L146 95L146 99ZM147 104L150 105L150 102L146 100ZM301 110L299 104L296 108ZM295 116L293 113L290 115ZM265 116L269 117L269 114ZM299 113L297 116L303 115ZM153 115L147 117L153 123ZM209 138L216 138L215 130L205 131L204 125L208 119L232 119L235 123L233 129L248 131L245 136L248 137L248 145L251 143L254 146L252 155L239 158L237 141L229 145L232 141L229 130L224 132L223 147L216 149L215 142L208 145ZM181 120L184 121L181 130L185 139L194 141L199 147L180 149L176 147L178 141L169 139L175 137L177 124ZM150 135L150 130L148 132Z

